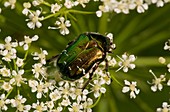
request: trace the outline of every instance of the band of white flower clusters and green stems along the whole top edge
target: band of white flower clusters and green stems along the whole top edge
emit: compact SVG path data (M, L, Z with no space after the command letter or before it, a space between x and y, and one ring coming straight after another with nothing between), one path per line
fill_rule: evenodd
M17 0L7 0L4 2L5 7L16 7ZM30 29L42 27L41 21L49 18L58 18L55 22L56 27L48 27L49 29L59 29L62 35L69 34L68 27L71 26L70 20L77 20L74 14L95 14L101 17L102 13L115 12L129 14L130 10L137 10L138 13L144 13L148 10L149 5L156 4L157 7L163 7L170 0L94 0L94 5L98 5L98 9L92 11L83 11L83 9L75 10L74 7L79 5L86 8L90 4L90 0L61 0L60 2L49 3L44 0L33 0L32 2L24 2L22 13L28 16L27 26ZM98 3L100 2L100 3ZM33 7L33 8L32 8ZM46 10L48 7L48 11ZM40 10L41 9L41 10ZM0 8L1 13L1 8Z

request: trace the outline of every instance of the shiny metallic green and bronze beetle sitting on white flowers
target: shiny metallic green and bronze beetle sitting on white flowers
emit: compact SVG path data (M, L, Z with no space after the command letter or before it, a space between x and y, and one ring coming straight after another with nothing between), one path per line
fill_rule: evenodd
M80 34L77 39L68 44L65 50L49 61L55 60L53 62L57 74L60 74L64 80L74 81L89 73L90 77L84 85L84 89L101 62L106 61L107 71L106 55L112 49L113 44L109 37L87 32Z

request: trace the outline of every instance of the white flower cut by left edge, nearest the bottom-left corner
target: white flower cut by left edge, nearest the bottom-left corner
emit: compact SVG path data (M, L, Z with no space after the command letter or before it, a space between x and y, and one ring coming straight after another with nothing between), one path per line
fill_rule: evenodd
M0 96L0 110L6 111L8 109L6 104L9 104L9 103L10 103L10 101L8 99L6 99L5 94L1 94L1 96Z

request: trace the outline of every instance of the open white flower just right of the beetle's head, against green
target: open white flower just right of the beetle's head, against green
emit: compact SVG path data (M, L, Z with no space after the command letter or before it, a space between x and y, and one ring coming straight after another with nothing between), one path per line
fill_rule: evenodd
M135 64L132 63L136 60L136 57L134 55L128 55L128 54L124 53L122 55L122 58L120 58L119 56L118 56L118 58L121 61L118 62L118 65L120 66L120 68L117 71L119 71L120 69L123 68L124 72L128 72L128 68L130 68L130 69L135 68Z

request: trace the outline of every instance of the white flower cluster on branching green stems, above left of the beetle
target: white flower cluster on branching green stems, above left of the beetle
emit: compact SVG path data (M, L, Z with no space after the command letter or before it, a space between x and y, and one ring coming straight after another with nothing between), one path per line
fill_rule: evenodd
M65 17L61 17L61 15L63 15L63 9L66 14L66 13L69 13L69 9L71 9L79 4L83 8L85 8L86 7L85 4L87 4L89 1L90 0L77 0L77 1L65 0L65 1L62 1L60 4L59 3L50 4L43 0L33 0L32 4L30 2L25 2L23 4L24 9L23 9L22 13L29 17L29 19L26 19L26 21L29 21L27 23L27 26L31 29L35 29L35 27L37 27L37 28L42 27L42 23L40 22L42 20L48 19L50 17L58 17L59 20L57 20L55 22L55 25L57 27L49 26L48 28L49 29L59 29L60 33L62 35L67 35L67 34L69 34L69 30L67 27L70 27L71 23ZM38 7L40 4L46 5L50 8L50 12L49 12L48 16L40 17L42 11L40 11L40 10L33 11L30 9L31 6ZM42 7L41 7L41 9L43 10ZM60 11L60 10L62 10L62 11Z

